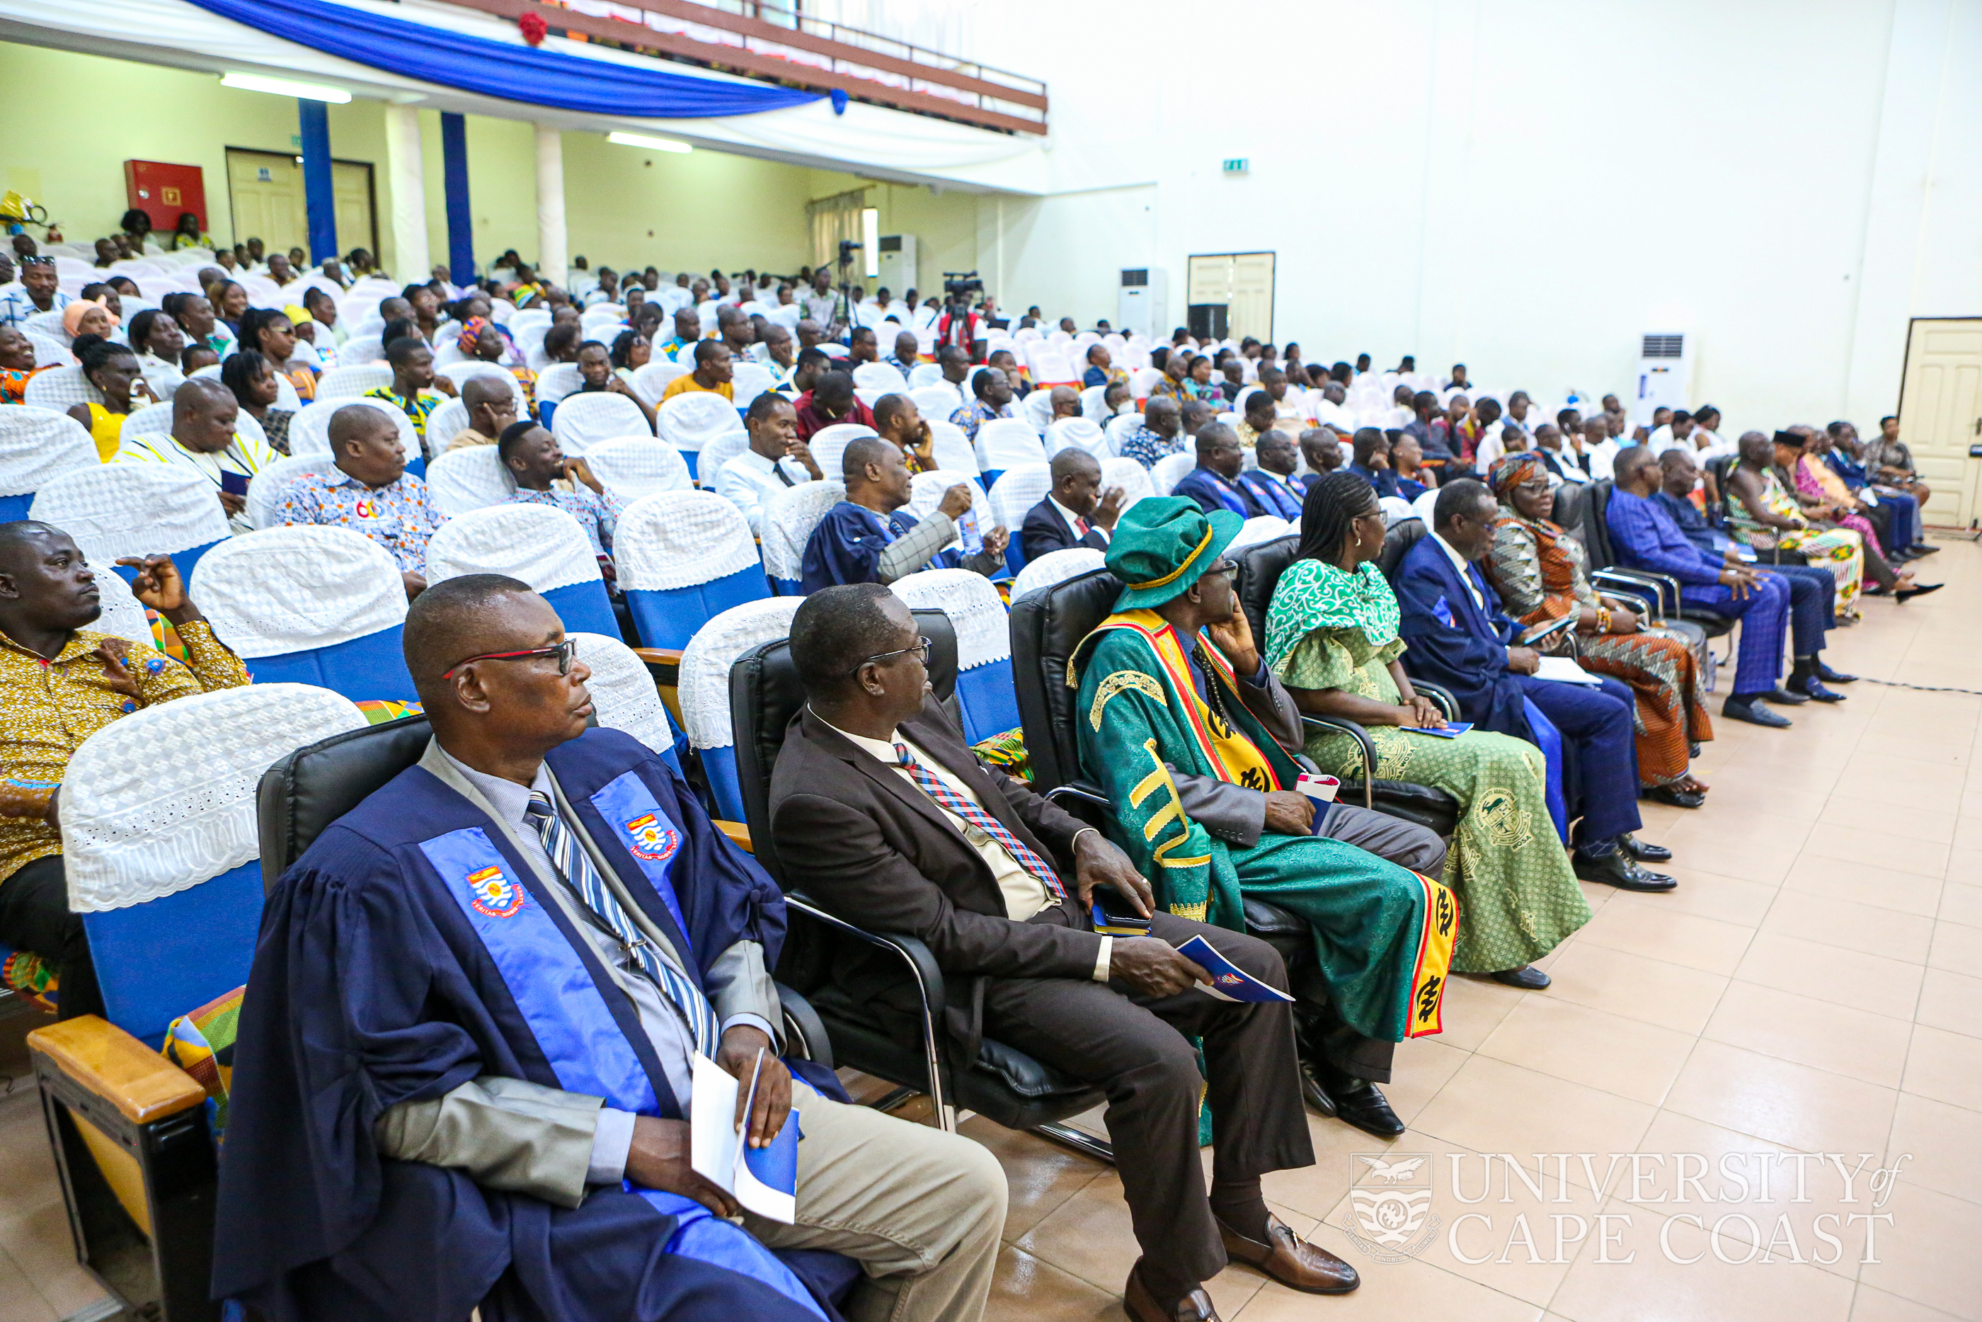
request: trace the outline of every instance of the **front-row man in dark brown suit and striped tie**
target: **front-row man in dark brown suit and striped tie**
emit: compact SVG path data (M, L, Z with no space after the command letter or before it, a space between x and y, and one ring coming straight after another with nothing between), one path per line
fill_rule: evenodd
M981 763L930 696L916 620L880 585L813 593L791 624L807 708L771 777L771 830L795 886L840 918L922 937L957 979L983 979L981 1033L1108 1094L1108 1134L1142 1245L1126 1308L1156 1322L1215 1318L1201 1282L1229 1257L1298 1290L1358 1284L1261 1197L1265 1171L1314 1163L1284 1003L1221 1001L1175 947L1193 936L1286 987L1255 937L1150 914L1150 884L1098 830ZM1062 882L1072 878L1072 884ZM1150 936L1094 932L1114 886ZM838 971L870 999L878 977ZM971 999L971 997L961 997ZM876 1005L878 1013L888 1007ZM949 1025L973 1041L977 1025ZM1217 1126L1207 1195L1197 1157L1201 1037Z

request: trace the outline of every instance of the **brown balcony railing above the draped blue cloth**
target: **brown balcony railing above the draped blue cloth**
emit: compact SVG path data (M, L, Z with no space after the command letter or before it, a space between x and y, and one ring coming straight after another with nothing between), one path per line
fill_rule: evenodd
M999 133L1046 131L1046 83L759 0L448 0L553 34Z

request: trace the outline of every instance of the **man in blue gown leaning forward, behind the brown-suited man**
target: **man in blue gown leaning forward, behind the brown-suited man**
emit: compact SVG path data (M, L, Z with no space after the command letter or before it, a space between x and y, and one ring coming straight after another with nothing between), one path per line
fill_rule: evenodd
M981 531L979 551L943 549L957 539L957 519L971 507L967 484L943 492L926 519L908 511L908 464L892 440L856 436L840 458L840 474L846 499L826 511L805 543L807 593L834 583L894 583L918 569L961 567L991 577L1005 567L1003 525Z

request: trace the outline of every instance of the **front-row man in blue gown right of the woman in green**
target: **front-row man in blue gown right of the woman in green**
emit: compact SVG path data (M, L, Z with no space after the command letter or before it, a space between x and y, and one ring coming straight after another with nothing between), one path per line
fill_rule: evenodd
M1536 739L1526 704L1562 735L1564 793L1570 817L1582 817L1576 876L1623 890L1673 890L1677 882L1647 872L1639 860L1671 850L1631 836L1637 817L1635 700L1617 680L1599 686L1536 680L1540 656L1514 646L1516 624L1479 571L1492 549L1498 503L1483 484L1463 478L1439 488L1433 529L1413 545L1393 583L1403 608L1403 666L1443 684L1459 716L1481 729Z

